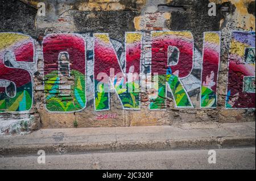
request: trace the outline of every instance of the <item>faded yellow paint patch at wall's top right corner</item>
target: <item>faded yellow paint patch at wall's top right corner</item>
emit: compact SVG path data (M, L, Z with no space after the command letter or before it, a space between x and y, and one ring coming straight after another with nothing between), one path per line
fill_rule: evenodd
M236 10L234 11L234 20L236 22L237 28L243 28L243 30L251 30L252 27L255 31L255 16L249 14L247 11L247 5L250 2L255 0L210 0L210 2L214 2L216 4L222 4L224 2L231 2L234 6L236 6Z

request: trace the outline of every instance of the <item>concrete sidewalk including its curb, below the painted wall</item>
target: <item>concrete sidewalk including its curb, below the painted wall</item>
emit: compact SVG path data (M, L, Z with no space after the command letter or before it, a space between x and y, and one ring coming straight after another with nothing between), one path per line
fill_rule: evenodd
M0 155L217 149L255 146L255 122L184 123L177 126L40 129L0 136Z

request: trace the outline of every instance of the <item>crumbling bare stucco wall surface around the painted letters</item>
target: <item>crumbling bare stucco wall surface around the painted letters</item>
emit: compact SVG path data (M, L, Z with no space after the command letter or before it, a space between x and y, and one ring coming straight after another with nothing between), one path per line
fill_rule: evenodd
M78 127L127 127L142 125L171 125L192 121L239 122L253 121L255 110L226 110L226 85L228 81L228 53L232 31L255 31L255 14L251 11L255 1L246 0L98 0L98 1L44 1L46 16L38 16L40 1L0 1L1 32L19 32L35 40L36 70L32 72L33 105L30 111L23 113L0 114L1 121L33 120L29 129ZM208 16L208 3L214 2L216 16ZM158 5L179 7L172 11L159 11ZM221 11L228 6L228 11ZM111 95L110 110L101 111L101 115L115 114L114 118L97 119L99 112L94 110L93 92L93 33L109 33L110 41L118 52L119 61L125 61L125 32L141 31L142 72L148 72L151 66L151 31L190 31L195 49L194 66L191 76L183 83L193 103L194 109L175 108L170 90L167 90L167 109L148 110L148 94L141 94L141 110L123 110L116 94ZM204 43L204 32L221 31L220 71L217 84L217 108L200 108L200 73ZM46 110L44 91L43 38L49 33L78 33L86 41L86 108L79 112L53 113ZM124 66L123 66L124 68ZM255 67L254 67L255 68ZM255 72L255 69L254 69ZM64 82L65 83L65 82ZM198 85L199 86L195 86ZM24 116L25 115L25 116ZM33 119L31 119L33 117ZM108 116L106 116L108 117ZM19 121L19 123L20 123ZM13 122L12 122L13 123ZM23 128L22 128L23 129ZM28 130L29 130L28 129ZM10 133L10 131L5 131ZM19 132L19 131L18 131Z

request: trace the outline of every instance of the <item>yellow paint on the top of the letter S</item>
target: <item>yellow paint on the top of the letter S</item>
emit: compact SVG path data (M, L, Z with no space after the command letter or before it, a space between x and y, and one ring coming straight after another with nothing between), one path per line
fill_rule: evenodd
M18 33L0 33L0 49L10 47L20 40L28 40L29 37Z

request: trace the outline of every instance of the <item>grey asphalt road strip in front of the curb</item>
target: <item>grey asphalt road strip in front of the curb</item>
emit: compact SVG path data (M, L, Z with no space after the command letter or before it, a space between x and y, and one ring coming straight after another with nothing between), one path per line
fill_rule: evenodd
M255 147L216 149L216 163L208 163L209 150L138 151L0 157L0 169L255 169Z

